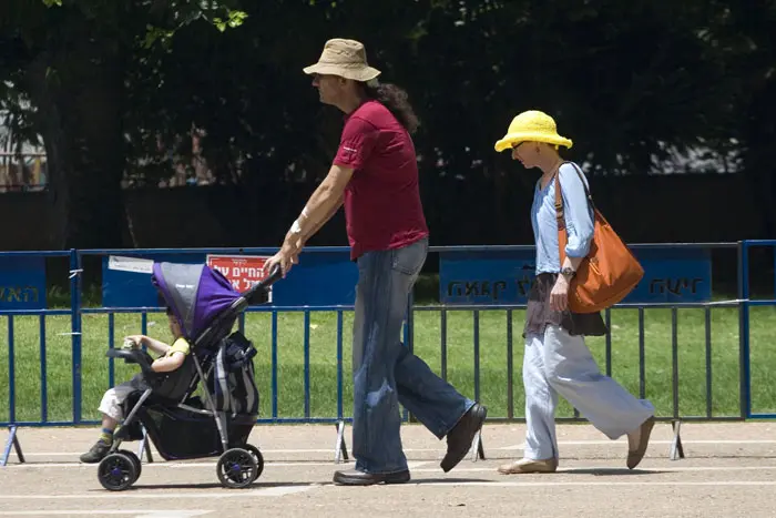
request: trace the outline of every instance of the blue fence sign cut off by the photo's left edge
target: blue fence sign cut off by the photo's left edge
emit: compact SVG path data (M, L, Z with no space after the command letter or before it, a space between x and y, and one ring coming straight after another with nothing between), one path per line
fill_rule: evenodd
M0 257L0 309L45 308L45 257Z

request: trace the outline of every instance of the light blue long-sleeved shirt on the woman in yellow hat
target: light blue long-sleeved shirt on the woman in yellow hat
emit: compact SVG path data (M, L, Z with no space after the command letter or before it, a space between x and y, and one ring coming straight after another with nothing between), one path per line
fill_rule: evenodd
M580 171L581 172L581 171ZM563 216L569 236L565 254L570 257L584 257L590 252L593 241L593 210L588 202L584 186L576 170L570 163L561 165L561 195L563 196ZM582 173L585 185L590 185ZM558 219L555 217L555 181L551 180L541 189L541 179L533 191L531 206L531 225L537 243L537 275L540 273L559 273L561 271L560 250L558 245Z

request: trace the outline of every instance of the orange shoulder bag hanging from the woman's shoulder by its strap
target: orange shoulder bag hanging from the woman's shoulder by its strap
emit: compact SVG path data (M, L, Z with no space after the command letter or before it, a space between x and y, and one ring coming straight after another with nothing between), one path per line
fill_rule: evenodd
M571 162L569 162L571 163ZM595 313L613 306L633 291L644 276L639 261L625 246L614 228L595 209L590 191L576 164L571 163L582 182L588 202L593 210L593 241L590 252L582 260L576 274L569 284L569 309L572 313ZM565 261L565 245L569 236L563 217L560 167L555 172L555 214L558 217L558 243L561 267Z

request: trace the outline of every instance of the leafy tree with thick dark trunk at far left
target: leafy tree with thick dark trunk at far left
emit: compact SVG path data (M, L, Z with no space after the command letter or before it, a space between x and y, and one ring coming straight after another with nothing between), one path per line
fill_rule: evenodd
M42 135L57 207L55 242L81 247L122 243L130 71L156 75L161 54L177 30L200 19L217 27L217 17L232 24L243 19L216 1L2 4L0 94L20 128Z

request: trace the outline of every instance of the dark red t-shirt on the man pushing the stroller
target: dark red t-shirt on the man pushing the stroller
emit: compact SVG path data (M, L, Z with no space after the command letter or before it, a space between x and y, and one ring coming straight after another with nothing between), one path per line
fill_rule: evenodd
M351 260L428 235L415 145L386 106L367 101L346 118L334 163L355 170L344 195Z

